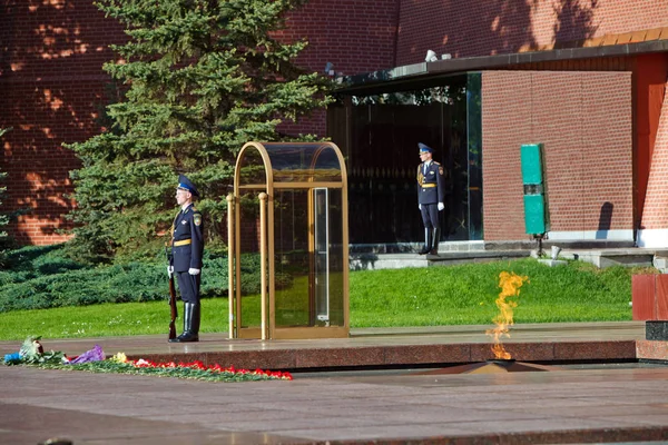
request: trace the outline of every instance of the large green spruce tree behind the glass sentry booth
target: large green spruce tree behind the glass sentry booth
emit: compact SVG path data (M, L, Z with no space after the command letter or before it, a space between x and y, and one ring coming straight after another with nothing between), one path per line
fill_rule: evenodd
M122 85L111 125L68 146L77 208L72 247L81 256L158 251L175 214L177 174L198 186L207 238L222 240L235 156L249 140L287 140L276 126L325 107L331 83L299 69L305 41L275 37L305 0L101 0L126 27L105 65ZM303 138L313 138L306 136ZM295 139L294 137L292 138ZM215 243L214 243L215 244ZM209 244L210 245L210 244ZM219 245L219 244L218 244Z

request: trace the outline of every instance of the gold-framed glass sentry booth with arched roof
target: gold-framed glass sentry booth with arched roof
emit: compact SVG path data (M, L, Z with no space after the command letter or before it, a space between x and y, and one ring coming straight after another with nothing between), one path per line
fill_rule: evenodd
M227 197L230 338L347 337L347 185L332 142L247 142Z

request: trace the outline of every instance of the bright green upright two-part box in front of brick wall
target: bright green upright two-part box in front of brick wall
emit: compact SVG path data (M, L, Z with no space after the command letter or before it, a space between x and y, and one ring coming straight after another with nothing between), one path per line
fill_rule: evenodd
M542 144L525 144L520 147L524 185L524 227L528 235L543 235L550 229L542 151Z

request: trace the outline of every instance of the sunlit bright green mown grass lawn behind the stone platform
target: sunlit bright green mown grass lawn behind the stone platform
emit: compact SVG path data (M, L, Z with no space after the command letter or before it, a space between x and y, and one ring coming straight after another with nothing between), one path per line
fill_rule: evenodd
M630 320L631 275L655 269L611 267L598 269L572 261L547 267L534 259L468 264L452 267L353 271L350 275L351 326L438 326L492 324L499 313L499 274L527 276L514 322ZM298 283L298 281L297 281ZM295 285L297 286L297 285ZM298 286L302 289L303 286ZM303 298L303 289L295 290ZM289 289L282 290L285 298ZM258 297L244 297L249 316L259 310ZM227 298L202 303L202 333L226 333ZM179 303L179 314L181 310ZM245 309L246 310L246 309ZM259 319L257 317L257 319ZM0 339L167 334L167 301L101 304L52 309L0 313ZM181 320L177 320L180 333Z

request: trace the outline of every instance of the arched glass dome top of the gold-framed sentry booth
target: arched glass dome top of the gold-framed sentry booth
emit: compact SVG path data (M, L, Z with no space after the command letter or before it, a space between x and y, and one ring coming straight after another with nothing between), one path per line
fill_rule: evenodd
M237 158L240 186L343 182L344 178L343 156L332 142L247 142Z

